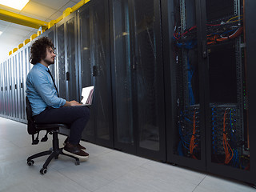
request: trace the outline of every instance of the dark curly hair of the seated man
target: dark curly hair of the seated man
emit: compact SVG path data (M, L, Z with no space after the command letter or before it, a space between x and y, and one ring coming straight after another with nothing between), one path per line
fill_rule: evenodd
M38 38L30 48L30 62L37 64L41 59L46 58L46 48L51 47L53 50L54 44L47 37Z

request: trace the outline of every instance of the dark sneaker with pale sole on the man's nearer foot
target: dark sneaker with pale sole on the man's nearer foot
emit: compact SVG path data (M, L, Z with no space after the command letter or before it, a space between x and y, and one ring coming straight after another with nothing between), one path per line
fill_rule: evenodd
M69 142L66 142L66 146L64 146L62 152L64 154L69 154L75 158L79 158L79 160L81 161L86 160L89 157L89 154L87 154L83 150L80 150L78 146L72 145Z

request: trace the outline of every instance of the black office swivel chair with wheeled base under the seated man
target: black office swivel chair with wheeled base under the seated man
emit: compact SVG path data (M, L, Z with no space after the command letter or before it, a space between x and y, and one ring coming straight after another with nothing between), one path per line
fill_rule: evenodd
M46 142L47 141L47 134L52 134L53 135L53 147L50 150L46 150L43 152L40 152L38 154L34 154L27 158L26 162L28 166L33 166L34 161L32 159L34 158L39 158L44 155L50 154L50 156L46 159L46 162L43 164L42 169L40 170L41 174L46 174L47 172L47 166L49 165L50 161L55 158L58 159L59 154L63 154L62 149L59 148L58 146L58 130L59 129L68 129L68 126L65 124L37 124L34 122L34 119L32 117L32 109L30 106L30 101L26 97L26 118L27 118L27 131L28 134L32 135L32 145L37 145L39 142L38 136L39 132L41 130L46 130L46 135L41 139L41 142ZM34 135L37 134L37 137L34 138ZM79 165L79 158L75 158L69 154L63 154L66 156L69 156L71 158L74 158L76 160L75 165Z

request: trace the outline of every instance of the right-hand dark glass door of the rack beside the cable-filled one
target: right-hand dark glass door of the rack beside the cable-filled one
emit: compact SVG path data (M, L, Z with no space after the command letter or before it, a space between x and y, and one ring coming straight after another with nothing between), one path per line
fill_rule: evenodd
M160 3L131 2L134 128L138 154L165 160L164 78Z

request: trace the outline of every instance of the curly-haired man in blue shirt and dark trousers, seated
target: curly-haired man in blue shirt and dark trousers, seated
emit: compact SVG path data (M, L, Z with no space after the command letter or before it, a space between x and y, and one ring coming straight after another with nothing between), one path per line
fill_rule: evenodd
M90 118L90 110L76 101L58 97L58 90L48 66L54 64L54 44L49 38L38 38L30 48L30 62L33 68L26 77L26 95L30 101L36 123L63 123L70 125L70 136L66 139L64 154L80 160L89 157L79 144L82 131ZM76 107L73 107L76 106Z

